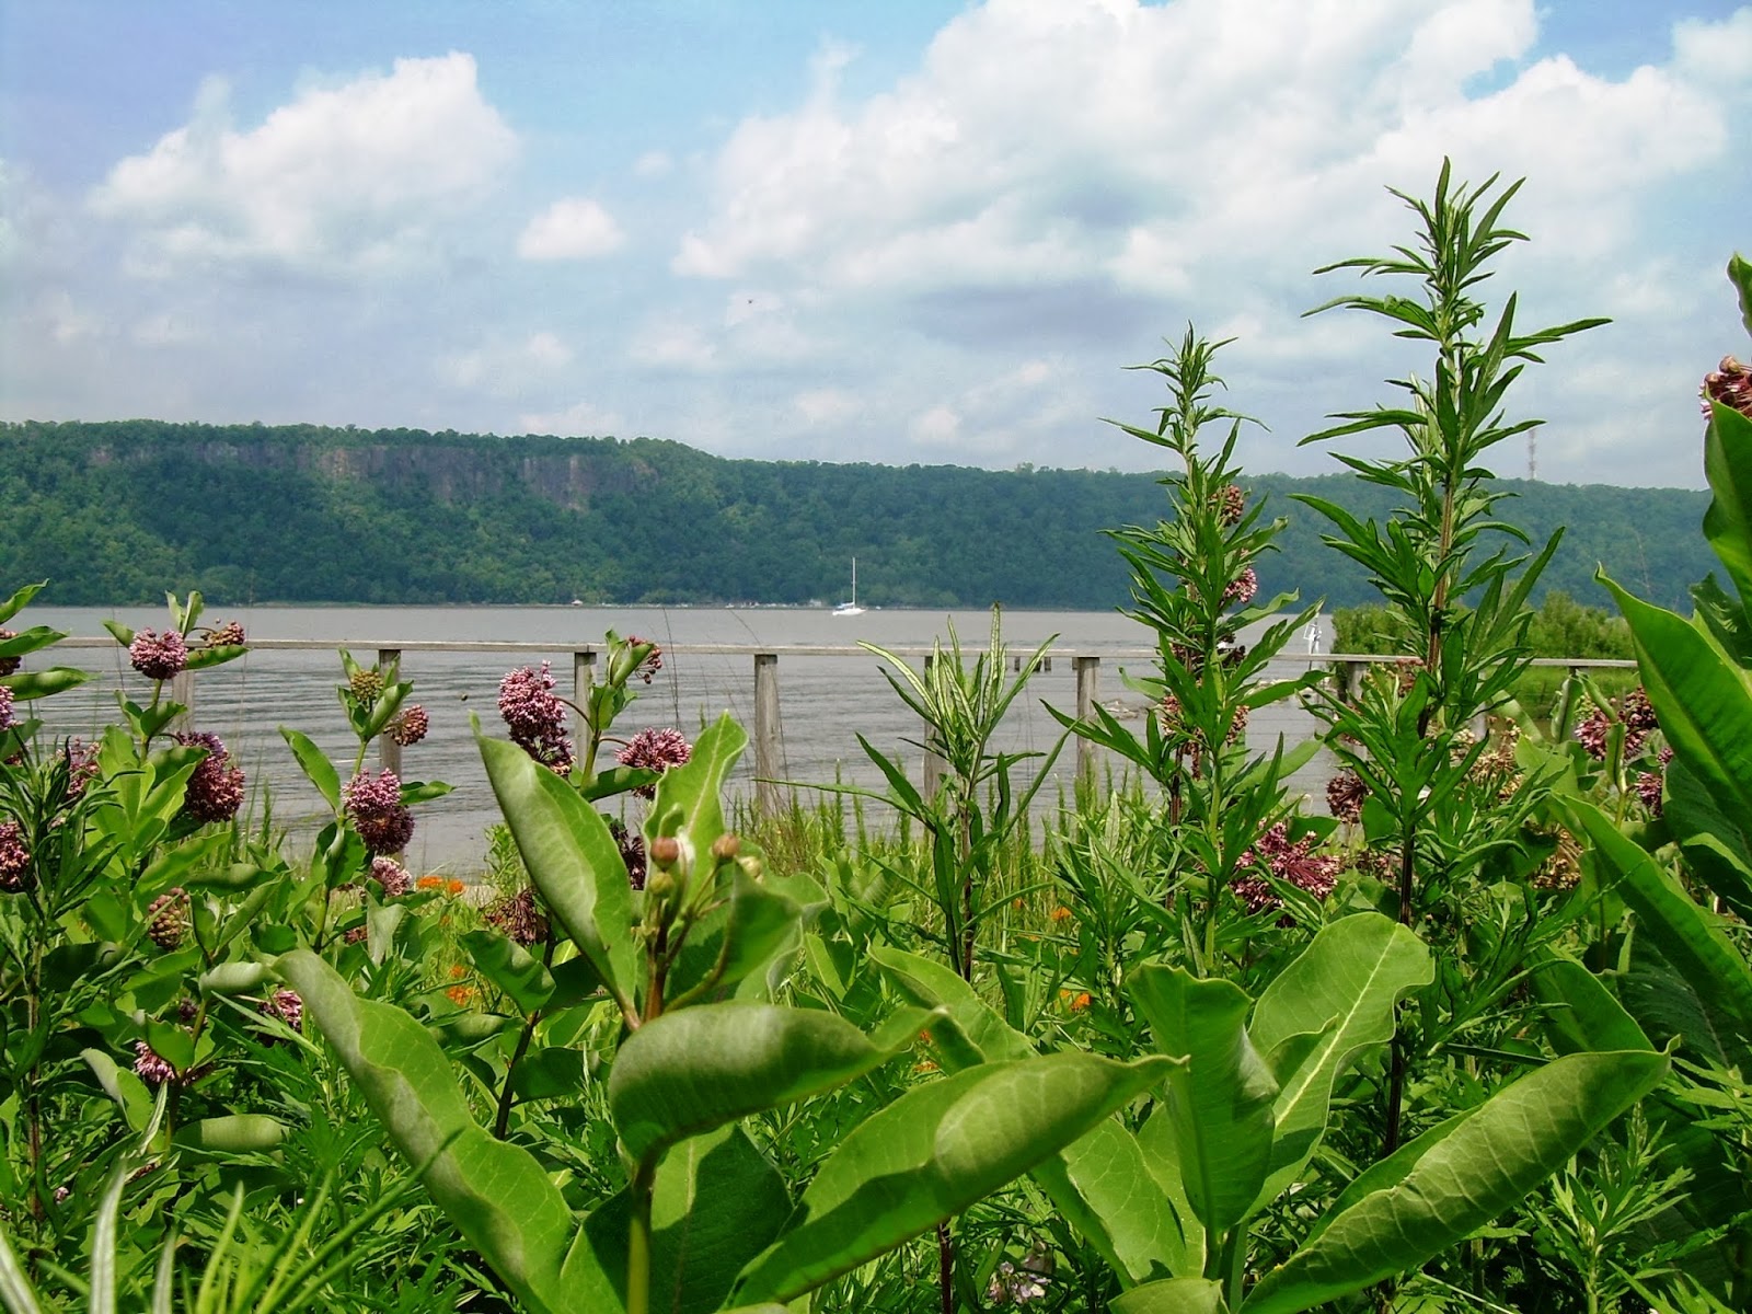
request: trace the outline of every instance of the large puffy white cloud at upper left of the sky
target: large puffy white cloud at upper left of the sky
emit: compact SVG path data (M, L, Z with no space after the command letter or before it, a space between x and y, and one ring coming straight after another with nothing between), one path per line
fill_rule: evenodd
M450 217L515 152L468 54L310 88L245 130L210 81L194 117L117 163L89 203L133 230L130 268L142 275L392 272L433 258Z

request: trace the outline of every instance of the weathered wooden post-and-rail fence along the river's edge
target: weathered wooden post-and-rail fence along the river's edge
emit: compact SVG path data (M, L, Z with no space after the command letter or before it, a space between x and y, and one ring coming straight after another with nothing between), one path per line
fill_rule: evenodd
M583 706L590 694L590 683L596 678L596 657L603 652L601 645L582 645L566 646L552 643L522 643L522 641L496 641L496 639L475 639L475 641L447 641L447 639L408 639L408 641L385 641L385 639L252 639L249 643L252 650L307 650L307 652L336 652L347 648L349 652L375 652L378 666L387 666L391 662L399 662L403 653L410 652L478 652L492 653L498 657L512 659L513 662L533 659L533 657L552 657L557 652L571 653L571 703ZM116 648L116 639L103 638L67 638L61 639L56 648ZM780 745L780 659L781 657L864 657L871 653L864 648L850 645L734 645L734 643L687 643L673 645L664 648L666 653L676 657L752 657L753 659L753 725L750 727L750 739L753 746L753 774L755 774L755 806L771 815L781 808L781 787L778 780L783 776L780 769L781 745ZM894 655L916 659L927 668L934 659L936 650L925 646L911 648L890 648ZM1100 668L1104 661L1109 662L1148 662L1156 657L1155 648L1104 648L1099 653L1076 652L1065 648L1051 648L1042 653L1041 666L1051 669L1053 659L1069 661L1070 669L1076 675L1076 715L1079 720L1086 720L1095 715L1095 704L1100 692ZM1023 657L1013 659L1013 668L1020 669ZM1363 673L1377 662L1396 662L1398 657L1382 657L1370 653L1284 653L1277 659L1286 664L1307 664L1325 666L1337 678L1339 689L1346 696L1354 696ZM1542 657L1533 662L1540 668L1561 668L1572 673L1584 669L1635 669L1636 662L1631 661L1594 661L1594 659L1572 659L1572 657ZM184 671L172 682L172 697L182 703L189 710L194 708L194 673ZM580 727L573 727L575 734ZM378 764L389 771L401 774L401 745L394 743L389 736L380 736L377 741ZM1084 780L1093 778L1097 769L1097 750L1086 739L1077 739L1077 774ZM941 780L943 762L934 757L925 759L925 788L927 792L936 790Z

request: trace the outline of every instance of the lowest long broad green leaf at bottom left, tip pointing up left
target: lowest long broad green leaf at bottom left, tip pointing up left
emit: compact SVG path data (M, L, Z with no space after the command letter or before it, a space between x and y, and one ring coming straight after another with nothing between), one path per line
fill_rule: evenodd
M583 1247L568 1263L575 1219L564 1197L529 1151L475 1123L431 1034L398 1007L357 999L308 950L282 955L275 969L403 1158L429 1163L426 1190L506 1286L543 1314L592 1307L575 1303L576 1293L606 1279Z

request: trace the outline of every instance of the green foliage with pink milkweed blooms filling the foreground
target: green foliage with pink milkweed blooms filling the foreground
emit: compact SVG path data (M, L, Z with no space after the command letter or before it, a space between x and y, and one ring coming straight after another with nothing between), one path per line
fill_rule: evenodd
M1416 244L1356 263L1424 300L1342 298L1435 356L1346 417L1403 436L1351 463L1400 513L1318 506L1412 661L1354 701L1272 678L1310 611L1256 603L1281 522L1188 329L1125 426L1177 461L1167 515L1114 533L1153 715L1060 717L1134 778L1037 848L1041 776L990 748L1034 659L1006 678L995 613L971 661L878 653L943 762L880 762L908 837L783 865L725 818L731 720L615 736L655 645L611 634L576 708L510 673L508 738L477 731L510 836L484 906L398 860L445 787L366 767L424 729L394 669L342 653L350 762L284 731L333 813L293 865L182 724L177 678L244 650L198 596L116 629L144 692L93 746L30 715L82 676L12 662L60 636L0 632L0 1302L1743 1309L1752 378L1710 384L1729 587L1685 620L1608 585L1647 692L1526 717L1552 548L1498 550L1484 459L1584 326L1477 300L1512 193L1444 170ZM1247 739L1288 697L1332 727L1332 816Z

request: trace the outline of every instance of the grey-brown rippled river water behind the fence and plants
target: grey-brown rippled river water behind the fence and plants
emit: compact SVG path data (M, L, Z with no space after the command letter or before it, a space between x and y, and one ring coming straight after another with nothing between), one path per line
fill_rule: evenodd
M11 624L51 625L75 638L105 636L102 622L161 629L161 608L53 608L32 606ZM743 645L750 648L848 646L858 641L883 648L922 648L932 639L948 639L948 625L960 634L964 655L972 662L983 652L990 615L983 611L867 610L857 617L836 617L825 608L566 608L566 606L431 606L431 608L305 608L256 606L242 611L212 610L203 620L221 624L240 620L251 639L314 639L328 650L261 648L194 682L196 729L221 736L251 780L251 808L261 815L272 809L273 822L289 829L294 848L308 843L321 823L322 802L300 774L291 750L277 732L291 725L317 741L336 762L342 774L352 762L356 743L347 731L335 685L342 668L335 648L347 646L370 664L378 648L398 648L413 641L520 641L547 645L543 652L519 653L508 661L501 653L482 652L406 652L401 676L413 683L413 703L431 718L427 738L403 750L405 780L442 780L454 792L415 809L417 827L408 848L417 871L478 871L485 862L485 829L498 820L492 790L487 785L475 748L470 717L478 715L489 734L505 734L498 717L498 683L513 666L552 661L557 692L571 690L571 652L578 646L601 648L603 634L639 634L666 650L664 668L646 685L634 685L639 697L622 717L617 731L631 734L646 725L675 725L689 738L724 711L752 725L753 657L750 653L689 652L694 645ZM1325 632L1332 632L1330 622ZM1113 611L1006 611L1004 641L1011 655L1027 655L1035 645L1058 636L1051 669L1039 671L1027 692L1016 699L1006 718L997 746L1004 752L1046 752L1060 738L1060 727L1046 711L1051 704L1065 713L1076 710L1076 680L1070 653L1099 655L1100 701L1120 715L1139 715L1142 697L1120 680L1123 668L1149 669L1148 648L1153 636L1137 622ZM1298 641L1298 652L1305 652ZM93 736L114 722L114 690L126 687L135 699L147 692L130 668L119 645L67 648L54 657L37 653L32 668L51 664L79 666L95 678L68 694L44 701L35 715L56 736ZM918 657L911 659L916 666ZM781 774L799 787L846 785L876 788L881 776L858 748L864 734L876 748L899 755L918 778L922 752L906 743L920 739L916 718L901 704L881 675L883 662L865 652L843 657L783 655L778 664ZM1307 668L1302 661L1282 661L1274 676ZM1268 752L1279 734L1291 741L1312 731L1312 718L1289 704L1256 713L1247 729L1249 746ZM1067 790L1074 773L1074 745L1067 745L1055 769ZM1318 757L1293 781L1291 788L1323 802L1323 787L1332 774L1330 760ZM375 750L368 759L375 766ZM748 797L753 790L750 760L745 757L732 780L732 792ZM804 802L823 797L818 790L799 788ZM1048 785L1042 801L1056 804L1058 787ZM872 815L881 815L876 809Z

